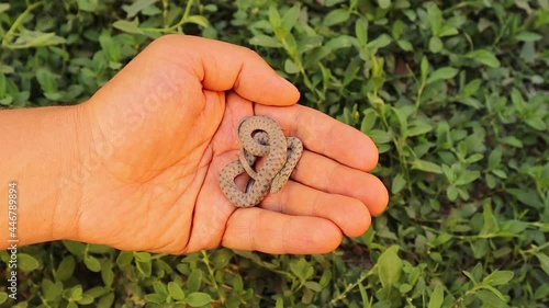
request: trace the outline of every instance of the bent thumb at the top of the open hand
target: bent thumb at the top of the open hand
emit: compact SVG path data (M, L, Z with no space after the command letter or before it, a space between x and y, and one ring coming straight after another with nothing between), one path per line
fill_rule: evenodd
M149 50L147 50L149 49ZM251 49L189 35L166 35L144 53L169 59L197 77L208 90L234 89L243 98L267 105L291 105L298 89L284 80Z

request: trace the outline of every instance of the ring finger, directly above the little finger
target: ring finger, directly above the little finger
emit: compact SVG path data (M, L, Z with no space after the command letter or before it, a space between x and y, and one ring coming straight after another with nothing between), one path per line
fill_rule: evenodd
M261 208L292 216L329 219L348 237L361 236L371 224L366 205L357 198L325 193L290 181L261 202Z

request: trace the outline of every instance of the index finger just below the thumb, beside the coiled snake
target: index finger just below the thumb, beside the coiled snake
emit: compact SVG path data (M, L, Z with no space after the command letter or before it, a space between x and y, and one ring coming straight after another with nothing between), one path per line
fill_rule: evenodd
M299 137L307 150L363 171L378 164L378 148L370 137L320 111L302 105L285 109L258 105L256 114L274 118L287 136Z

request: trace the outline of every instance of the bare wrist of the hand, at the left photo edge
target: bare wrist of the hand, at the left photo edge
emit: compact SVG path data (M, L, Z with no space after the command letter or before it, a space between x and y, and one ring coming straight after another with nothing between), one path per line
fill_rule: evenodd
M0 153L0 203L9 203L9 183L16 183L16 228L11 231L19 246L78 239L83 185L76 175L82 171L87 126L80 105L0 112L0 140L5 145ZM8 223L9 209L1 206L0 223ZM13 239L11 231L2 227L0 248Z

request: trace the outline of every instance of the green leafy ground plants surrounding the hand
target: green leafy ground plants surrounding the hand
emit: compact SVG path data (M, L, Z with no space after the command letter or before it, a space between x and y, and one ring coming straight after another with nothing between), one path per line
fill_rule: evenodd
M374 139L391 203L325 255L26 247L14 307L549 306L549 1L27 2L0 4L3 107L81 102L165 33L245 45Z

